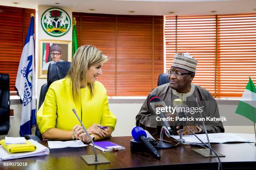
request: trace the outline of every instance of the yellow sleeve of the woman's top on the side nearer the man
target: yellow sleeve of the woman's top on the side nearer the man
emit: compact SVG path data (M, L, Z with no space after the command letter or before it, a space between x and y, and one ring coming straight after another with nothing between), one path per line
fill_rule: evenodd
M113 131L115 129L116 117L109 110L107 92L105 92L105 97L104 97L104 101L103 101L102 111L103 111L103 113L102 113L100 124L103 125L103 126L110 127L112 129L112 131Z

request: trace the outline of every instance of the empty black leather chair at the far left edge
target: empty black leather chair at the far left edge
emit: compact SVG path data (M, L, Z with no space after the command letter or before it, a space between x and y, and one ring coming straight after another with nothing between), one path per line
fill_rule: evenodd
M10 77L0 73L0 135L10 129Z

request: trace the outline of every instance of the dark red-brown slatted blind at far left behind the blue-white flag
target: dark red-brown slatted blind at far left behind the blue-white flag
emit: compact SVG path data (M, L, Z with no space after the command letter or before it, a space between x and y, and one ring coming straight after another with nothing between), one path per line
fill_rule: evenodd
M0 6L0 73L9 74L10 91L15 91L15 80L31 13L35 15L36 10Z

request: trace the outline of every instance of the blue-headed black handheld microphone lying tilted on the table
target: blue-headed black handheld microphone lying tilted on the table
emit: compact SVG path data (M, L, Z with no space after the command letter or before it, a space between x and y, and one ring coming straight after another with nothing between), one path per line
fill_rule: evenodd
M135 127L132 130L132 136L133 139L136 140L137 142L143 143L143 145L157 158L160 159L160 155L157 152L156 148L148 141L147 134L145 130L141 127Z

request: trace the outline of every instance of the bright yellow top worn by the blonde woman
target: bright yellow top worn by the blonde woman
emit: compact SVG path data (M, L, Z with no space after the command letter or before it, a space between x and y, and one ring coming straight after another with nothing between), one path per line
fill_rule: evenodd
M109 110L105 87L96 81L92 98L88 86L81 88L80 92L81 102L75 104L69 78L57 80L50 85L44 103L37 112L37 124L41 134L50 128L72 130L74 125L81 125L72 111L73 108L85 128L97 123L114 130L116 117Z

